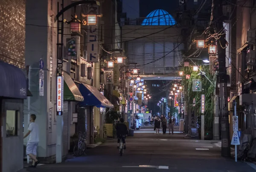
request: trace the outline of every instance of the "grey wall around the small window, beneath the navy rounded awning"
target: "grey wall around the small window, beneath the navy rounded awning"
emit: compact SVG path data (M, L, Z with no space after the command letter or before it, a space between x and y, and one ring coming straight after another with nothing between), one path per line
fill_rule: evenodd
M16 172L23 168L23 100L3 99L1 102L3 120L3 172ZM17 136L6 136L6 110L18 111Z

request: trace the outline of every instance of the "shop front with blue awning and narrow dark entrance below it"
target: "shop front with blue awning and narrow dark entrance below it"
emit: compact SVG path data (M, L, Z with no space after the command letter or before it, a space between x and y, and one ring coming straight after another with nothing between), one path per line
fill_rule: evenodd
M80 119L85 119L84 129L80 129L80 131L85 131L87 144L91 144L93 143L93 106L96 106L97 108L113 108L113 104L110 103L110 101L94 86L80 83L79 91L84 97L84 101L80 102L79 106L80 109L84 110L79 110L78 117Z

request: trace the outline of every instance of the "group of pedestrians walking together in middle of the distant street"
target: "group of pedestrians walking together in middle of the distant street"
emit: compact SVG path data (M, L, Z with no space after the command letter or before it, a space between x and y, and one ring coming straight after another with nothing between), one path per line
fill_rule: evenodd
M167 122L167 119L164 115L161 115L161 118L159 116L154 118L154 131L156 131L156 134L159 135L160 128L163 129L163 135L166 134L167 125L169 128L169 135L173 134L173 127L175 125L175 121L172 120L172 118L169 119L169 122Z

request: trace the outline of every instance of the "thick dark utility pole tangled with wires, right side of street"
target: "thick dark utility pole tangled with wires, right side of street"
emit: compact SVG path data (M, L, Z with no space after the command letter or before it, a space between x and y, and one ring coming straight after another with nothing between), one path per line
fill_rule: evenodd
M221 33L217 40L220 83L221 156L230 157L230 126L227 109L226 34L223 26L222 0L212 0L215 33Z

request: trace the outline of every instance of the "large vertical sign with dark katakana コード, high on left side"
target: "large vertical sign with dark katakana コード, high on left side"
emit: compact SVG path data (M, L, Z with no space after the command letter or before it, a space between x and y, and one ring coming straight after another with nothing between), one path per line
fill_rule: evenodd
M88 26L87 32L87 62L98 62L98 25Z

